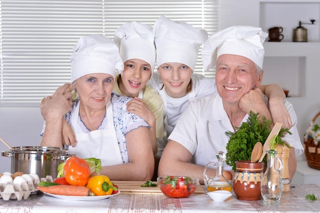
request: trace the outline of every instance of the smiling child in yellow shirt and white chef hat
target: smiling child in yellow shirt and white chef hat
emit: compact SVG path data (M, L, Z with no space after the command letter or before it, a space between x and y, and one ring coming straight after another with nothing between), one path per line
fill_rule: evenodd
M150 125L154 155L157 137L164 136L163 104L158 92L147 85L155 66L153 29L140 22L128 22L119 27L113 38L124 61L124 71L117 76L113 91L118 96L134 98L127 104L129 112L143 117Z

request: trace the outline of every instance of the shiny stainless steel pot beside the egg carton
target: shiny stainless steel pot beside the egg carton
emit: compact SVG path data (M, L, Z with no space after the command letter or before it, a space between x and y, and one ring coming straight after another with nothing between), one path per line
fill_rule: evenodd
M2 151L2 156L11 157L11 173L36 173L39 177L57 177L58 165L66 160L67 149L55 147L13 147Z

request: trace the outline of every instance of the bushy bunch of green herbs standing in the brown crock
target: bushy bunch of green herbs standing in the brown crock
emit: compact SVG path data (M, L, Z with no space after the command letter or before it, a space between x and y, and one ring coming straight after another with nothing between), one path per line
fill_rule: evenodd
M271 132L272 122L262 116L262 122L258 117L259 113L250 111L246 122L243 122L240 127L236 127L236 131L227 131L225 135L229 137L226 144L226 164L230 165L236 171L236 161L250 160L251 153L258 141L265 143ZM277 143L283 144L281 135L285 132L291 134L287 128L282 128L277 137ZM264 159L266 164L266 159Z

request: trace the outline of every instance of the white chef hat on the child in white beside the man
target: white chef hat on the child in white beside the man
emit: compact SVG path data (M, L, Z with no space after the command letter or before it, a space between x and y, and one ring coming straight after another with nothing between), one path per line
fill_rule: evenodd
M177 62L194 70L200 45L208 38L205 30L198 30L186 22L159 17L153 26L156 63Z

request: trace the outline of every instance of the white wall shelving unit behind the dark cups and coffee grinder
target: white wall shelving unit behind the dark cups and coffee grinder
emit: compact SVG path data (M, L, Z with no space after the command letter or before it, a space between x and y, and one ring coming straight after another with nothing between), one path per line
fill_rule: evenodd
M263 83L277 83L289 90L292 98L306 98L314 92L312 82L320 58L320 1L315 0L260 0L259 26L268 32L271 27L282 27L284 39L266 39ZM311 25L310 19L315 19ZM308 42L292 42L293 30L299 21L308 31ZM292 100L292 99L290 99ZM319 108L320 110L320 108Z

